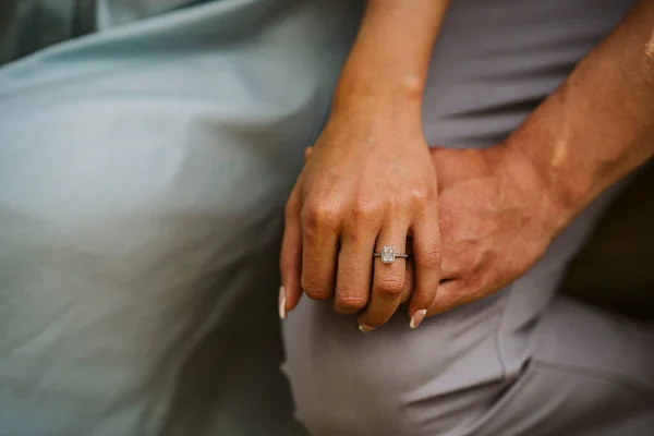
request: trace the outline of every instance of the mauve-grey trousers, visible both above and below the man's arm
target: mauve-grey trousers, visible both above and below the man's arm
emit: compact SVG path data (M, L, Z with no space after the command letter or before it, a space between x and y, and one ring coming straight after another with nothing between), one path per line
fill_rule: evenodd
M502 141L632 3L452 1L424 99L427 142ZM416 330L402 312L362 335L355 317L303 299L283 324L299 420L315 436L654 435L654 326L556 295L617 189L525 276Z

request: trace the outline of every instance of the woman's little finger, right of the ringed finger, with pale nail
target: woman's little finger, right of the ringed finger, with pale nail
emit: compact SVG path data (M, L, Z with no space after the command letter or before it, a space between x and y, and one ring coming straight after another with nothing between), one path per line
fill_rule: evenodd
M420 218L413 226L414 290L409 304L410 326L415 328L432 305L440 281L440 231L436 214Z

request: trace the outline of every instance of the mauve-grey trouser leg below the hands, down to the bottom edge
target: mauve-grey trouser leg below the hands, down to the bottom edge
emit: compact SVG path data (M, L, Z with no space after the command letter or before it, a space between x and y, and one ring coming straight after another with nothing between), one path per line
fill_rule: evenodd
M508 331L534 286L368 335L303 301L283 326L298 419L315 436L651 435L654 326L557 298Z

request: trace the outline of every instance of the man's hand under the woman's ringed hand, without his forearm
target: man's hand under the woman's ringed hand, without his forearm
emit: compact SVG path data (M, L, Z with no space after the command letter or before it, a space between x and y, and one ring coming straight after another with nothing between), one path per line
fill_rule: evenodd
M516 280L561 225L546 185L520 153L505 145L431 153L439 183L443 281L427 316Z

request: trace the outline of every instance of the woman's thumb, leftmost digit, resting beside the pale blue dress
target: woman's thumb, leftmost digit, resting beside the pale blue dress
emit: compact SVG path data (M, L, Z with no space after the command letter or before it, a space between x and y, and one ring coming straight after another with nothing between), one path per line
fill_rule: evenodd
M302 296L302 222L296 196L291 195L286 207L283 240L279 261L281 288L279 289L279 317L284 319Z

